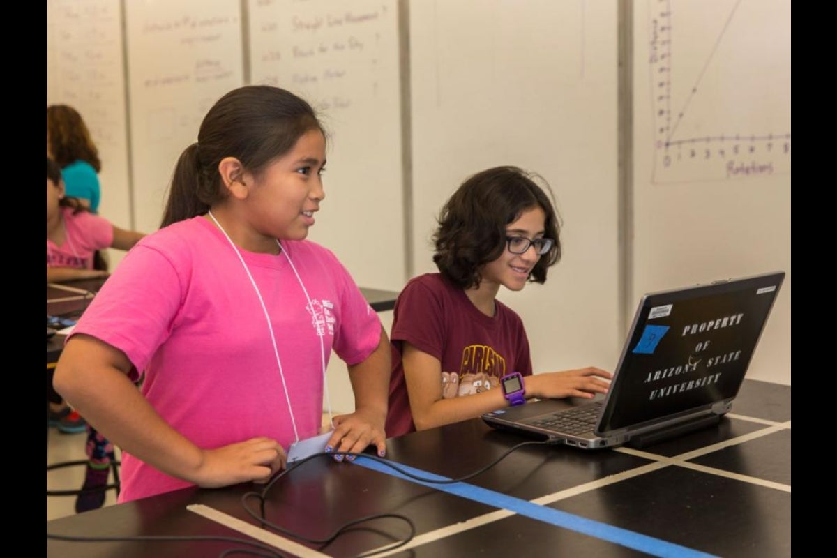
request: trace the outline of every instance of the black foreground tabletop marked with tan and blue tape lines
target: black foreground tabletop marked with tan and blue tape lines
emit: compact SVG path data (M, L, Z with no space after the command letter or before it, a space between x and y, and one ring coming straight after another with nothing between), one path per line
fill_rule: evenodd
M411 558L789 556L790 395L789 386L747 380L715 427L642 450L528 446L464 483L420 484L371 458L315 458L271 487L264 518L316 538L370 514L402 514L417 532L393 555ZM523 439L475 419L391 438L388 460L425 478L460 479ZM259 489L177 490L48 521L47 532L260 537L267 531L241 501ZM287 536L275 544L286 556L354 556L408 533L393 518L364 525L326 546ZM218 556L230 548L245 547L47 540L48 555L62 557Z

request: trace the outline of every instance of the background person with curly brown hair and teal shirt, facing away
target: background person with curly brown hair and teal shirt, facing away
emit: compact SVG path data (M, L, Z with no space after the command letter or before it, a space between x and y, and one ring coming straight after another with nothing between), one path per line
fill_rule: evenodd
M57 162L69 197L99 212L101 161L85 120L68 105L47 107L47 156Z

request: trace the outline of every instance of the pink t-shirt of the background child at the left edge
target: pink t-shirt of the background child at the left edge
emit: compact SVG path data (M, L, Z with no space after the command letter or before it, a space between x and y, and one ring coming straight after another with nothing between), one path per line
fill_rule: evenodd
M72 207L61 207L67 238L60 246L47 238L47 267L93 269L96 250L113 243L113 225L88 211L73 213Z

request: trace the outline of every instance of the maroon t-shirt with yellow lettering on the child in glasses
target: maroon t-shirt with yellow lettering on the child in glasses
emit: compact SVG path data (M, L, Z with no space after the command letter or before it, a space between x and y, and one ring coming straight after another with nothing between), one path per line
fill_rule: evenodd
M388 438L415 431L401 363L403 341L439 359L444 398L500 389L501 376L510 372L531 376L523 322L499 300L495 304L495 315L487 316L441 274L410 279L393 309Z

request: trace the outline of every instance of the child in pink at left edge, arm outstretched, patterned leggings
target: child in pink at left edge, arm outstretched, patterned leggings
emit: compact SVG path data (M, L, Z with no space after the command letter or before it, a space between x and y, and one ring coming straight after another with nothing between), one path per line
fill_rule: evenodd
M128 250L143 236L113 226L107 219L90 213L74 197L66 196L61 169L47 157L47 283L105 276L107 269L94 269L95 254L105 248ZM51 391L48 390L50 422L62 433L87 431L88 463L82 488L104 486L110 463L115 459L113 445ZM100 508L104 502L104 490L80 494L75 510Z

